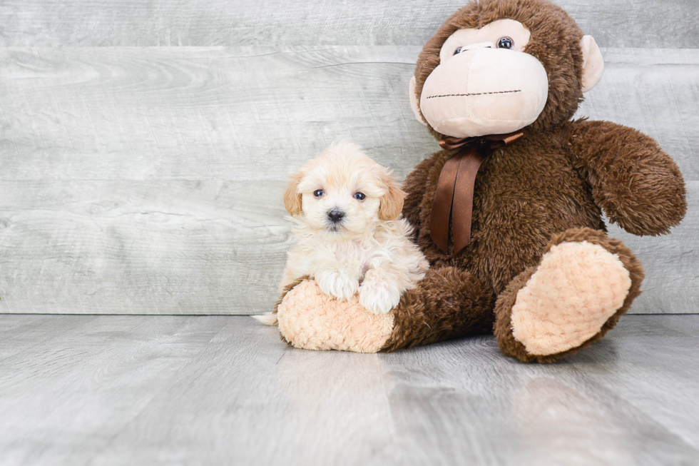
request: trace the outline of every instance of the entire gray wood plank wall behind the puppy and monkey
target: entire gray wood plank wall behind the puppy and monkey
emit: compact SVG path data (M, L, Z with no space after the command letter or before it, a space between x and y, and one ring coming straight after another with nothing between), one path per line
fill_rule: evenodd
M260 313L286 176L338 138L405 176L437 149L407 82L462 1L0 4L0 313ZM688 181L669 236L612 226L636 313L699 308L699 3L561 0L606 58L579 116L658 139Z

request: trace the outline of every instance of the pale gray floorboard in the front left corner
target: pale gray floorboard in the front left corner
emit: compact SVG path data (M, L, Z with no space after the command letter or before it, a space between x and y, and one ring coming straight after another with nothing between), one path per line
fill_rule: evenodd
M63 318L32 326L40 339L0 361L2 465L87 464L225 325L215 317Z

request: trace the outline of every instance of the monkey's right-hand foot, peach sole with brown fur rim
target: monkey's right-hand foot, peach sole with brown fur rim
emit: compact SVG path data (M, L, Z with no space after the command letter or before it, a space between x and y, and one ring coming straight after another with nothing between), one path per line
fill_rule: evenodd
M501 349L521 360L550 362L584 348L616 325L642 278L641 264L621 241L588 229L558 235L539 265L499 298Z

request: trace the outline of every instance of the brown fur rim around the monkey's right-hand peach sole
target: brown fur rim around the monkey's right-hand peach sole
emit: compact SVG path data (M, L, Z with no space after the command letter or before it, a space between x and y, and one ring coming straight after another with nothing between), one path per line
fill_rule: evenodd
M591 228L571 228L564 233L553 236L549 245L546 246L544 253L549 252L551 247L554 245L573 241L587 241L588 243L601 245L610 253L618 256L621 263L623 263L626 270L628 270L629 277L631 278L631 288L628 290L628 295L626 295L623 305L616 311L616 313L614 313L614 315L611 316L611 318L607 320L599 333L577 348L573 348L555 355L539 356L529 354L524 349L524 345L519 343L519 341L515 340L512 336L512 324L510 321L512 306L514 306L517 298L517 292L519 292L521 288L524 288L524 285L526 285L529 278L531 278L531 275L536 272L536 266L527 268L510 282L506 290L504 290L504 292L498 297L495 305L495 337L497 338L500 350L504 355L514 356L515 358L526 362L552 363L553 361L561 359L567 355L577 353L579 350L587 348L592 343L600 340L608 330L614 328L621 315L626 313L628 308L631 307L631 302L633 302L636 296L641 294L641 282L643 281L644 277L643 265L641 265L641 261L639 261L636 258L636 255L633 255L631 250L626 248L626 246L620 240L608 238L608 236L601 231L592 230Z

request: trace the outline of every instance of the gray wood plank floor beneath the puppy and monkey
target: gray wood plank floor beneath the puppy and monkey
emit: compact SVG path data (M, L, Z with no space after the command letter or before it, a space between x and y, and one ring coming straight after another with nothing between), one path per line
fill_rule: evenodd
M241 316L0 315L0 465L698 465L699 315L553 365L292 350Z

